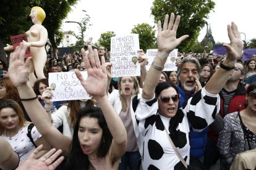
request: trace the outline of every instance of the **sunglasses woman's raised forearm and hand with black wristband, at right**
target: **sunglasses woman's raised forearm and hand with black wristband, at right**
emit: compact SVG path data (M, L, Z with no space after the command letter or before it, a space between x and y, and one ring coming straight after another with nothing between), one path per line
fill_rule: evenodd
M233 70L236 60L242 54L243 44L240 32L234 22L228 25L228 37L230 44L223 44L228 51L228 56L223 63L220 63L220 68L213 74L211 79L205 85L205 89L210 94L218 94L228 81L231 70ZM223 69L224 68L224 69Z

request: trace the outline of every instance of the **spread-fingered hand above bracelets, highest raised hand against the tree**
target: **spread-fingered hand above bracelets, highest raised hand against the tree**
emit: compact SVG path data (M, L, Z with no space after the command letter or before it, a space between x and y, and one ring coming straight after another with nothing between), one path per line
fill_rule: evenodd
M188 35L181 36L180 38L176 39L176 32L179 26L180 16L177 15L176 20L174 22L174 14L171 13L169 15L165 15L163 29L161 27L161 22L158 21L158 34L157 34L157 44L158 44L158 52L163 52L168 54L173 51L182 41L188 38ZM164 57L168 57L164 56ZM161 56L160 56L161 57Z

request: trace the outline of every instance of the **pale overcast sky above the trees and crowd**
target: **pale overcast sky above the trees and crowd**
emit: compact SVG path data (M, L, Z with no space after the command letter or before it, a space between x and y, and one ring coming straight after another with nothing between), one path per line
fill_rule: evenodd
M241 34L242 40L249 41L256 38L255 0L213 1L216 3L215 9L208 15L207 22L211 26L215 42L229 42L227 25L231 22L235 22L239 31L244 33ZM155 25L153 16L150 15L152 3L153 0L80 0L75 7L72 7L72 11L62 23L62 30L79 34L77 23L65 23L65 21L80 22L84 15L82 10L86 10L92 26L85 31L85 41L92 37L93 42L96 42L100 34L106 31L114 31L119 35L127 34L135 25L141 23ZM198 41L202 41L206 33L207 26L200 31Z

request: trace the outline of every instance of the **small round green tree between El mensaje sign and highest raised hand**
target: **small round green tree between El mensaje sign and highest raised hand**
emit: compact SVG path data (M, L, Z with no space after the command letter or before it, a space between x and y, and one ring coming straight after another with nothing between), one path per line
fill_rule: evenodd
M135 25L132 33L139 34L140 49L143 49L143 51L151 49L156 42L156 31L148 23Z

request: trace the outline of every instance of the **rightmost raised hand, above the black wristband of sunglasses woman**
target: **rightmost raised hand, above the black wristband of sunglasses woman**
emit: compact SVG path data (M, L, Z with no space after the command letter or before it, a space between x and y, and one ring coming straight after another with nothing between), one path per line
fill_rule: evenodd
M242 55L244 45L242 44L237 25L234 22L232 22L231 25L228 25L228 37L230 44L223 44L228 51L228 56L226 57L225 63L236 62L236 60ZM234 63L231 63L231 65L232 64L234 65Z

